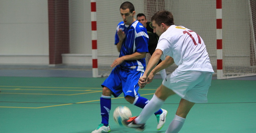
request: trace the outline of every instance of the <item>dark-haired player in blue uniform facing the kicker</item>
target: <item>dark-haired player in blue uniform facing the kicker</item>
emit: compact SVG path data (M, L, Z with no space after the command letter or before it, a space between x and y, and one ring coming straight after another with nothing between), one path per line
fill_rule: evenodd
M118 24L115 36L115 44L120 55L111 64L111 67L115 68L101 85L103 87L100 98L102 121L92 133L110 131L108 119L111 109L111 95L118 97L123 92L125 100L140 108L144 108L148 103L148 99L140 97L138 93L138 79L146 69L147 30L134 18L135 11L132 3L124 2L121 4L120 13L123 21ZM155 115L159 130L165 123L167 111L159 109Z

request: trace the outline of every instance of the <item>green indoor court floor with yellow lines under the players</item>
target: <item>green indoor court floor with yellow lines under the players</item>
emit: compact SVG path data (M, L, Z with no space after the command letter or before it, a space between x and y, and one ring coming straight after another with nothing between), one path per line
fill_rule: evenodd
M0 133L91 133L101 122L101 83L105 78L0 77ZM161 79L144 89L151 99ZM180 97L169 97L163 129L156 130L151 116L144 133L165 132L172 121ZM112 133L135 133L113 121L113 110L120 105L139 115L142 109L126 102L121 95L112 98ZM196 104L180 133L256 133L256 81L212 80L208 103Z

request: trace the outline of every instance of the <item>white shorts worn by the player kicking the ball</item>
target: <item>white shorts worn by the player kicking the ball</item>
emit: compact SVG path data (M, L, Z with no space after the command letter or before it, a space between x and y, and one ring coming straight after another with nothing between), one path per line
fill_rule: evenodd
M181 98L194 103L206 103L213 72L178 71L169 74L163 85Z

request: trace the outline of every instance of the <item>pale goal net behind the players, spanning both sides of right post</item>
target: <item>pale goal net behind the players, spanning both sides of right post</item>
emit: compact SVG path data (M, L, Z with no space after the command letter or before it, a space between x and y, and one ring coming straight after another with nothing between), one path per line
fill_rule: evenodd
M124 0L97 0L98 68L101 76L108 76L110 65L118 57L114 35L122 21L119 7ZM212 0L131 0L136 14L144 13L150 21L158 10L174 15L175 25L185 26L200 35L206 45L215 75L216 1ZM255 30L256 2L254 0L222 0L223 78L256 75ZM147 56L147 60L149 55ZM177 66L166 69L171 73Z

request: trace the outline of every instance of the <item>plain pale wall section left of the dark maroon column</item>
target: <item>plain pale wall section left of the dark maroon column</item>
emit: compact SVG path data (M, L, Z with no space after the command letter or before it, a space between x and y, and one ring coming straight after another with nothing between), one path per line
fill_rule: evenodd
M47 0L0 0L0 63L49 63Z

